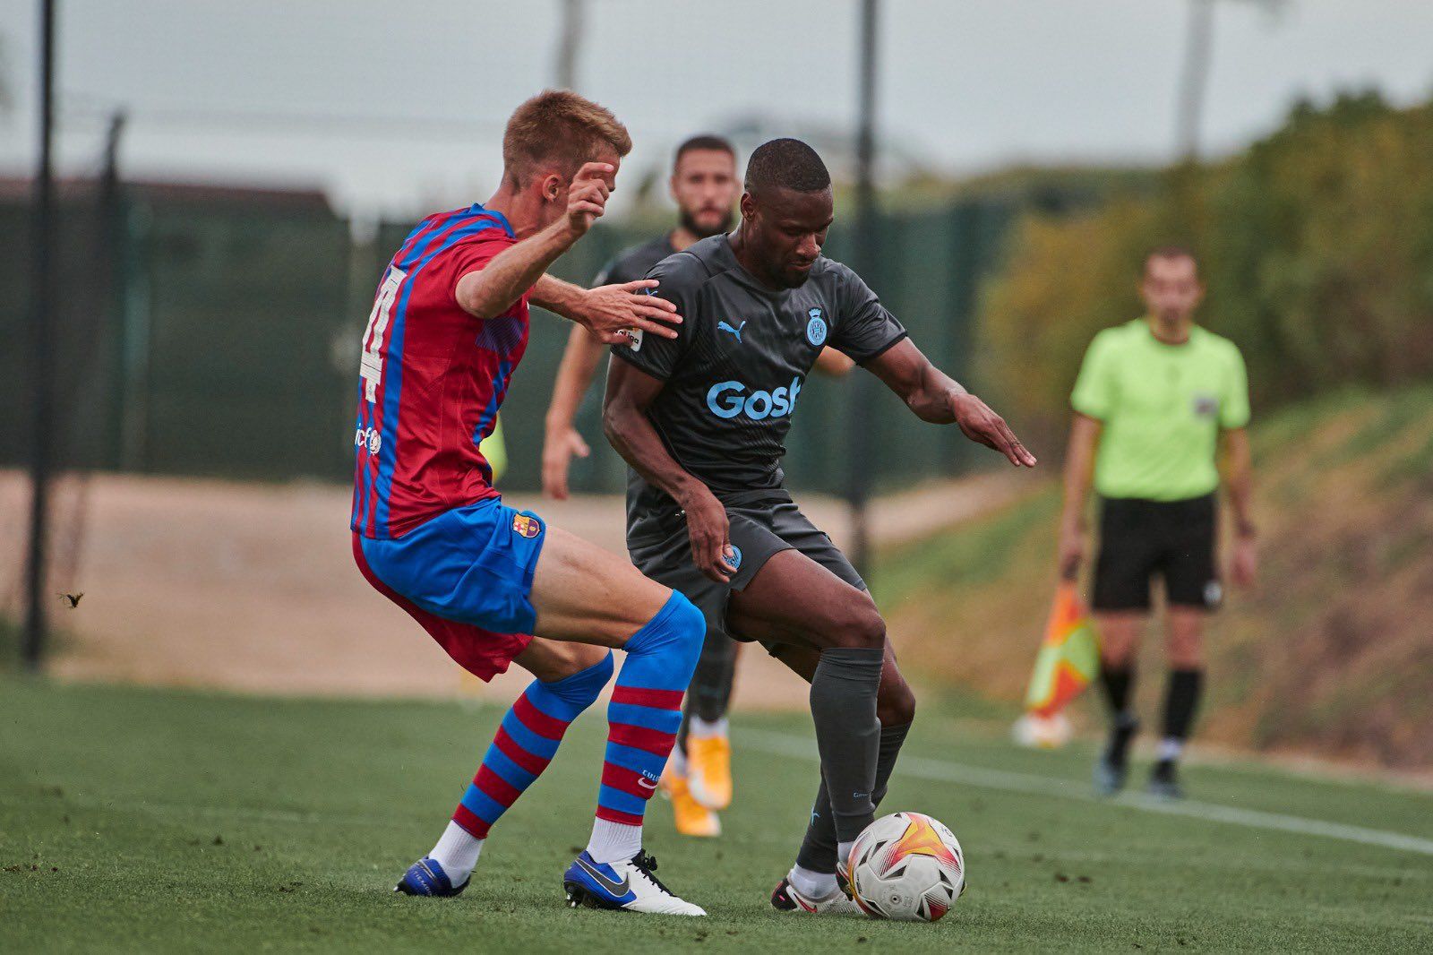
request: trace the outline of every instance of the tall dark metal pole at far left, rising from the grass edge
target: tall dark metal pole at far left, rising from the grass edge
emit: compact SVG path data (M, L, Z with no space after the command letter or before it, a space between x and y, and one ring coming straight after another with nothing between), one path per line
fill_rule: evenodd
M34 274L30 287L30 549L26 572L24 668L40 670L44 657L44 551L49 518L54 377L50 258L54 237L54 4L40 1L40 165L34 176Z

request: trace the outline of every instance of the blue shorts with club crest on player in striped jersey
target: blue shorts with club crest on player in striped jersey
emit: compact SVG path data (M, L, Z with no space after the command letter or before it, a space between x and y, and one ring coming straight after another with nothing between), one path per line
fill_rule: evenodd
M354 543L360 568L367 564L370 579L385 585L380 589L446 621L530 635L537 622L533 572L546 532L537 515L490 498L440 513L401 538L357 536Z

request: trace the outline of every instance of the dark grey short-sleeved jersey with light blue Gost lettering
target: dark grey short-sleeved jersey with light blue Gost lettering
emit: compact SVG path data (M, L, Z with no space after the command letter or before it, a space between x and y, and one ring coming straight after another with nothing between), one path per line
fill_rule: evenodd
M781 456L801 386L823 346L868 361L906 337L845 265L818 258L800 288L774 291L738 261L725 235L663 258L648 274L676 304L676 338L641 336L613 354L666 383L649 417L676 462L718 498L782 485ZM636 472L628 532L675 503Z

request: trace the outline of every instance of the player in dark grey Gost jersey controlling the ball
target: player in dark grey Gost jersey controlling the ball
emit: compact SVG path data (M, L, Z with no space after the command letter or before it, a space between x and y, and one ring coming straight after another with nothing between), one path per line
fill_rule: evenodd
M874 820L916 701L886 624L845 556L792 503L781 456L823 346L881 379L923 420L1035 466L999 414L936 369L856 272L821 257L831 176L775 139L747 166L741 225L652 270L684 317L678 337L613 348L603 424L632 467L633 562L759 641L811 683L821 784L797 863L772 893L788 911L850 911L845 860Z

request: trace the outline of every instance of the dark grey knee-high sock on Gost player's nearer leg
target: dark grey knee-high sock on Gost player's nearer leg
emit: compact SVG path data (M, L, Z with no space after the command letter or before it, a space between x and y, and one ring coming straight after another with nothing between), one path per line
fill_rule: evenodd
M876 693L884 654L881 647L831 647L811 677L815 746L838 842L856 839L876 819Z

